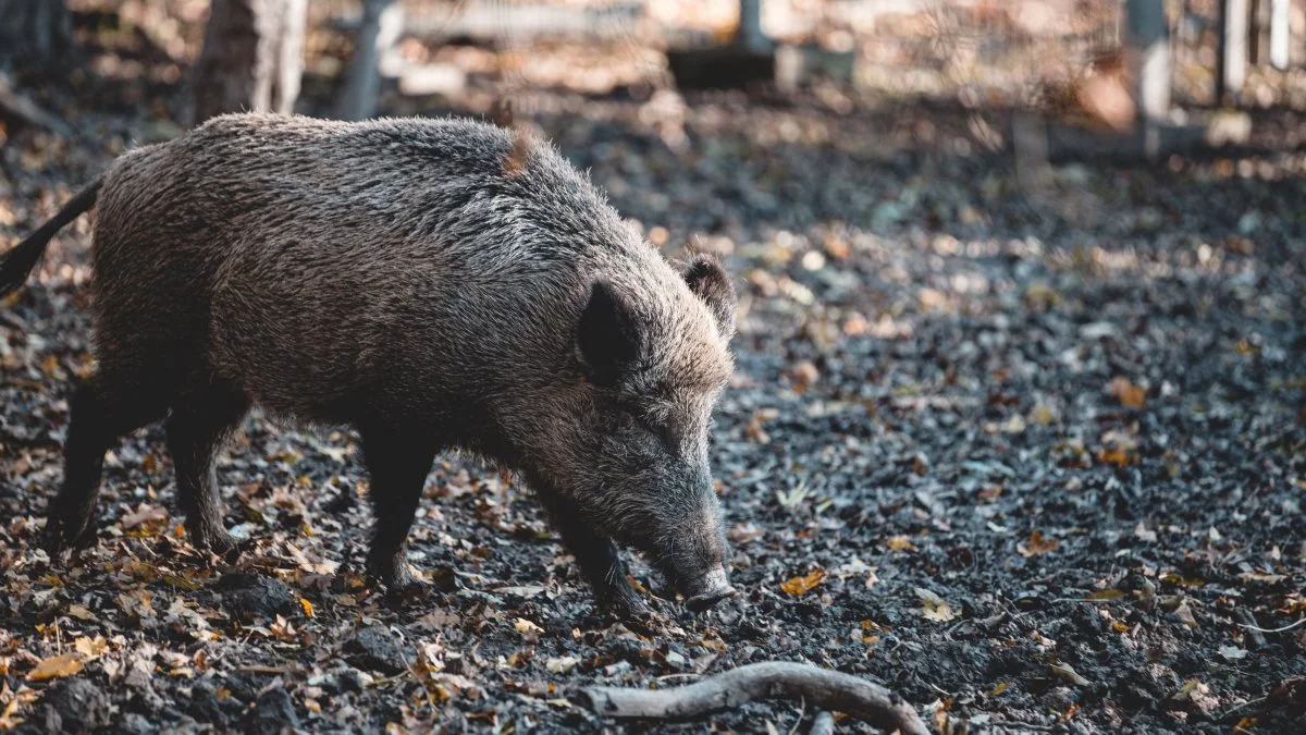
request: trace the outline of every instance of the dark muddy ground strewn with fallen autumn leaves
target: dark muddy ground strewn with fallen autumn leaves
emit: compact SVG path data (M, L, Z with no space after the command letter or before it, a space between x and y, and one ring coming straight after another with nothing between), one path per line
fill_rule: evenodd
M76 140L8 131L7 242L174 132L106 94L44 93ZM235 566L179 535L157 426L107 462L99 545L52 566L34 541L93 368L84 218L0 311L0 727L593 731L615 726L580 685L790 659L880 681L942 732L1302 731L1306 156L1017 177L947 110L687 102L529 106L654 243L737 276L713 454L739 599L656 599L657 637L614 625L529 492L447 458L411 539L432 591L393 604L358 575L353 437L259 417L219 467L253 547Z

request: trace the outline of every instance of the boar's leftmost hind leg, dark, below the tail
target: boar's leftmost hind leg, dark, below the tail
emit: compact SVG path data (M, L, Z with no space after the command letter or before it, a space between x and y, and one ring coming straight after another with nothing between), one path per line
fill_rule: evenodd
M93 521L104 453L119 437L167 411L159 391L135 385L114 379L112 371L102 365L99 374L73 391L64 441L64 484L47 509L46 549L51 556L95 543Z

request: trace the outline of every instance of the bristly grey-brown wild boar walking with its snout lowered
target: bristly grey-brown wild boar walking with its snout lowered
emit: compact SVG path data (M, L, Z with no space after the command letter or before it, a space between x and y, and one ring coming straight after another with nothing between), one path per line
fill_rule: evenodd
M735 296L677 269L546 143L458 119L225 115L138 148L4 255L0 296L97 209L97 373L71 398L52 553L94 543L106 450L166 417L196 545L223 527L214 455L257 403L357 430L368 572L405 544L438 453L534 488L597 600L643 615L618 544L693 609L733 595L708 424Z

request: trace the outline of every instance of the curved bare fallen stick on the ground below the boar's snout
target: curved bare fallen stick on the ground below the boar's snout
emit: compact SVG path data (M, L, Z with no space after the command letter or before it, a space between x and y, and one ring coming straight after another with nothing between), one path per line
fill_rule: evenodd
M586 687L581 694L598 714L616 718L688 719L768 697L802 697L821 710L837 710L902 735L929 735L906 701L870 681L791 662L741 666L671 689Z

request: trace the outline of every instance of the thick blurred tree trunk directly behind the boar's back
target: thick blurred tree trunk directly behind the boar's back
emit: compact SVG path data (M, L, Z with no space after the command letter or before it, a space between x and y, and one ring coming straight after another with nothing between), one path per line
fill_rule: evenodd
M244 110L291 112L306 12L307 0L213 0L195 63L192 123Z

